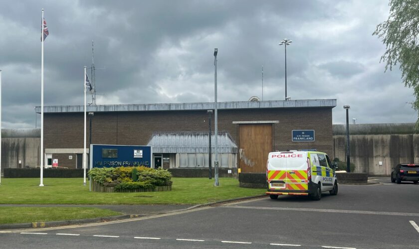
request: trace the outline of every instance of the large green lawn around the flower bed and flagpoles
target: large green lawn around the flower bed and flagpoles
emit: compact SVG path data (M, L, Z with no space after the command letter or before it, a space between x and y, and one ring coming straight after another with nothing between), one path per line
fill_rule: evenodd
M235 178L172 178L172 191L137 193L89 192L82 178L2 178L0 204L204 204L257 196L265 189L240 188ZM2 208L1 208L2 209Z

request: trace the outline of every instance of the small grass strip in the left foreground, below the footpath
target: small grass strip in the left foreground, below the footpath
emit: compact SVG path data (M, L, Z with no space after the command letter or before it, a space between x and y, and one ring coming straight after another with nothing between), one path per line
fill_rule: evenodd
M0 207L0 224L67 221L121 215L99 208Z

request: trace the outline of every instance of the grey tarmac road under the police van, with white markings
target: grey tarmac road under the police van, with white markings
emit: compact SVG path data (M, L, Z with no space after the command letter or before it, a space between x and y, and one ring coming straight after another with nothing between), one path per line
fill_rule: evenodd
M2 231L0 248L419 248L419 184L339 185L129 221ZM6 233L4 233L6 232Z

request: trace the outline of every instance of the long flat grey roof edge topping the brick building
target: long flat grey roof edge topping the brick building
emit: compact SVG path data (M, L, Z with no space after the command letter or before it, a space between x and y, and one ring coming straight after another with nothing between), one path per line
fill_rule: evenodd
M218 102L219 110L229 109L260 109L260 108L334 108L336 100L274 100L274 101L245 101ZM214 103L178 103L178 104L133 104L133 105L102 105L87 106L87 112L144 112L144 111L191 111L212 110ZM35 108L41 112L40 107ZM84 106L45 106L44 113L79 113L84 112Z

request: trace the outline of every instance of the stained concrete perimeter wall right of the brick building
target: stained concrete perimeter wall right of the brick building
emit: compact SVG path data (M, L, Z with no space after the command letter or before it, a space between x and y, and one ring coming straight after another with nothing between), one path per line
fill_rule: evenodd
M390 176L398 163L419 163L415 124L350 124L349 133L355 172ZM346 125L334 124L333 157L346 161L346 143Z

